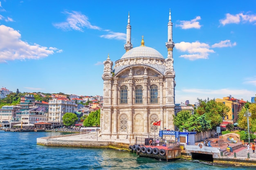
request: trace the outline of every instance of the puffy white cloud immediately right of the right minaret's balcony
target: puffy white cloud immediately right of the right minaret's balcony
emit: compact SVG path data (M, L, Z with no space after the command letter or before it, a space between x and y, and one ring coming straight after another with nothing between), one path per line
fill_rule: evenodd
M197 60L197 59L208 59L209 53L214 53L213 50L209 49L209 44L196 42L180 42L176 43L175 47L177 50L182 52L188 52L188 55L181 55L180 57L184 57L189 60Z

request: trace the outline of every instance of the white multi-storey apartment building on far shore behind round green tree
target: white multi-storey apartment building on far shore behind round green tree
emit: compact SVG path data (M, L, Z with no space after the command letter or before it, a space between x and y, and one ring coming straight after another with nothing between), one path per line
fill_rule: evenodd
M65 113L74 113L75 102L65 97L56 97L49 100L48 122L62 124L62 117Z

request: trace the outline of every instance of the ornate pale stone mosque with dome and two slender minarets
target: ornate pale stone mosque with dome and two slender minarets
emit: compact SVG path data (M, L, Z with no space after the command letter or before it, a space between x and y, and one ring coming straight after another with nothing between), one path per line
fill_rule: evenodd
M103 62L101 136L104 139L153 137L159 130L175 130L175 71L173 23L168 22L167 56L144 45L133 48L130 14L126 26L126 53L115 62ZM153 123L160 121L160 126Z

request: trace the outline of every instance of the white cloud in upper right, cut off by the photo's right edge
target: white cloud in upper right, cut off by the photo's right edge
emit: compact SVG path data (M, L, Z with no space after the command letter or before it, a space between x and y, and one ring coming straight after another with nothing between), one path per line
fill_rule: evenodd
M226 24L239 24L240 22L255 22L256 21L256 15L252 14L252 15L244 15L243 13L239 13L239 14L235 14L235 15L231 15L230 13L226 14L226 18L221 19L220 23L222 25L226 25Z

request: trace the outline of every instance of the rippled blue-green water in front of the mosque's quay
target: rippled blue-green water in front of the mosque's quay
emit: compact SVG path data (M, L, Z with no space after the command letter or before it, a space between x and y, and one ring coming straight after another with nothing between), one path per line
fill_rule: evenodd
M54 132L54 135L63 134ZM36 138L50 132L4 132L0 130L1 170L253 170L249 167L211 166L199 161L159 161L111 149L49 147Z

